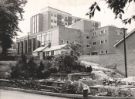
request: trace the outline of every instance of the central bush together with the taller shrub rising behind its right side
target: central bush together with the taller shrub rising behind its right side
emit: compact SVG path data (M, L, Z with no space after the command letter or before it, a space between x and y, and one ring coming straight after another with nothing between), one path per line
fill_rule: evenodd
M78 61L78 57L81 53L81 45L70 43L67 47L69 47L70 53L63 53L55 56L52 60L52 66L57 68L59 72L65 73L83 71L84 66Z

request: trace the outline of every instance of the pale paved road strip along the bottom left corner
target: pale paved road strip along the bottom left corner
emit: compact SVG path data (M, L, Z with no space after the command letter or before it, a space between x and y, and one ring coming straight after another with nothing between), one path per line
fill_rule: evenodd
M52 97L52 96L0 89L0 99L67 99L67 98Z

